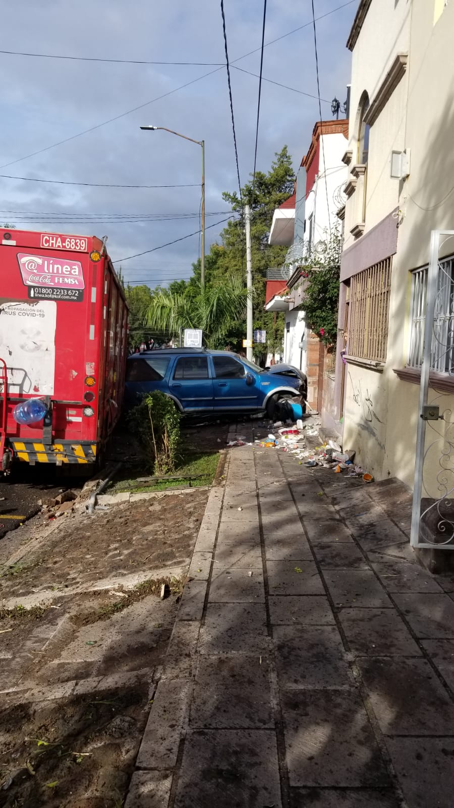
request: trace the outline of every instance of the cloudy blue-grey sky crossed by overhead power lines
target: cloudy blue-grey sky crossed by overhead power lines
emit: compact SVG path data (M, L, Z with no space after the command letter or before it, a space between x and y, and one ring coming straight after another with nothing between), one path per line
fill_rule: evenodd
M332 117L331 99L336 95L343 101L350 82L351 53L345 43L358 3L314 4L326 120ZM244 184L254 166L259 79L238 68L259 74L263 0L225 0L224 7ZM322 15L327 16L317 20ZM4 33L8 30L11 33L11 28ZM200 146L164 131L143 132L140 126L164 126L196 141L204 139L208 252L225 226L218 223L229 216L222 191L238 189L220 2L20 0L14 31L14 37L3 36L0 48L97 59L214 63L118 64L0 53L0 175L60 183L187 186L86 187L0 177L2 224L107 235L112 261L117 269L121 263L125 280L132 284L153 287L187 279L200 254L197 234L125 260L200 228ZM283 38L271 42L278 37ZM263 78L299 92L263 81L257 168L267 171L275 152L287 144L296 170L320 117L311 0L267 0L265 43L271 44L263 52ZM188 86L176 90L184 84Z

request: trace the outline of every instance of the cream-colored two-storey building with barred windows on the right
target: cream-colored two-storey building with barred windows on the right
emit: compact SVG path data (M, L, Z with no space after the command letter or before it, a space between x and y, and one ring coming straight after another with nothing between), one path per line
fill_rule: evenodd
M334 426L376 479L410 486L431 230L454 229L453 37L454 0L361 0L347 42L350 175ZM440 255L454 255L453 238ZM440 271L454 293L452 263ZM443 339L452 351L447 343L432 377L443 409L454 411L448 297Z

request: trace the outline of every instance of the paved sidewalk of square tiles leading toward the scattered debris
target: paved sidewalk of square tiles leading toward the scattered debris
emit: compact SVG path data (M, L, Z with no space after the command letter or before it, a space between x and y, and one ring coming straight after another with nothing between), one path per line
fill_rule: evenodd
M454 805L454 583L339 478L231 452L126 808Z

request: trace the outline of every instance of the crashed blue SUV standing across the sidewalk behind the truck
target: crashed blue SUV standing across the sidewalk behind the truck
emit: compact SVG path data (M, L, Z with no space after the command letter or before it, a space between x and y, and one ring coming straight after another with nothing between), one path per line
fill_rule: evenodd
M298 395L301 379L268 373L228 351L163 348L128 356L126 402L162 390L185 414L266 410L272 417L281 398Z

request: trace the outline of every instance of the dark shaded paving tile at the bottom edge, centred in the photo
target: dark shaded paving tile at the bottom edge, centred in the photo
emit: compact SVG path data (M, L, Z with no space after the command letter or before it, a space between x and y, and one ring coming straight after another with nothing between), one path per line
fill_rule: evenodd
M187 734L174 808L281 808L271 730L194 730Z

